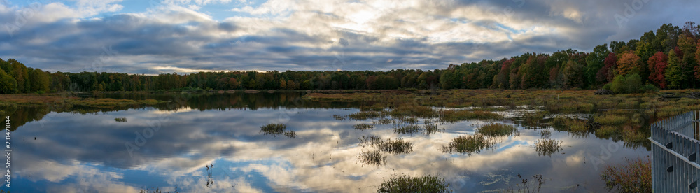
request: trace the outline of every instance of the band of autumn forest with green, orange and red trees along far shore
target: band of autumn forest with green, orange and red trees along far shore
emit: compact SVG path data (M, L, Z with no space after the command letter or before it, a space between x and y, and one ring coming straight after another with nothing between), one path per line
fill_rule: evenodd
M48 72L0 59L0 94L153 90L599 89L617 93L700 87L700 24L663 24L592 52L525 53L447 69L221 71L158 76Z

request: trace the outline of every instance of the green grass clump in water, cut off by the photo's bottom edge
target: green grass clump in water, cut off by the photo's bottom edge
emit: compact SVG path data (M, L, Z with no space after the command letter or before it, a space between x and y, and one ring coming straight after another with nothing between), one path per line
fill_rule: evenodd
M397 176L379 185L377 192L451 192L447 188L444 177L437 176Z

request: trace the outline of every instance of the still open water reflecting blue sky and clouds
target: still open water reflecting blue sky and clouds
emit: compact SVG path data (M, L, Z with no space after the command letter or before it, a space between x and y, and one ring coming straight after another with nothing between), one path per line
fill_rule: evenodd
M18 108L11 115L13 124L21 126L11 134L9 190L374 192L383 179L407 174L443 176L455 192L517 191L517 174L541 174L542 192L601 192L603 166L649 155L643 147L552 128L545 129L563 141L563 149L539 155L534 143L542 129L520 126L519 136L500 137L492 149L445 153L442 146L452 138L474 134L485 122L439 124L445 131L430 135L396 134L392 124L360 131L353 124L372 120L332 117L356 113L358 104L314 103L300 99L303 94L111 94L169 103L86 108L83 114ZM127 122L117 122L117 117ZM295 138L260 134L260 126L270 122L286 123ZM358 138L371 135L403 138L414 144L413 151L385 154L380 166L358 162L360 152L373 150L358 145Z

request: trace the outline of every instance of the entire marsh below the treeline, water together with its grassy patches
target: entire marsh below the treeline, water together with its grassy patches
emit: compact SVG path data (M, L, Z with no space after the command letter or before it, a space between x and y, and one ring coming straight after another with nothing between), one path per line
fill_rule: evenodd
M17 164L41 168L18 176L34 188L59 184L46 180L47 172L71 167L116 173L123 177L100 178L140 190L181 192L229 190L217 186L223 184L292 192L517 192L522 176L538 175L528 187L605 191L605 179L615 177L601 178L610 176L609 166L650 155L651 122L700 108L699 99L687 97L590 90L55 96L0 95L3 111L13 117L15 151L36 157ZM23 101L27 97L52 102ZM71 135L59 135L64 132ZM79 153L48 153L59 150ZM641 160L634 169L645 166ZM102 164L90 164L96 162ZM206 170L202 162L216 168ZM94 175L76 173L62 184ZM144 175L148 180L137 180ZM326 183L313 183L321 179Z

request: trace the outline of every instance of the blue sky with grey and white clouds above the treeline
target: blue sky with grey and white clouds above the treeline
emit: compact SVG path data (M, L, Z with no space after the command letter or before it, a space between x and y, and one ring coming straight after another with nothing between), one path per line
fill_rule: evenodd
M0 0L0 58L47 71L439 69L590 51L697 1Z

